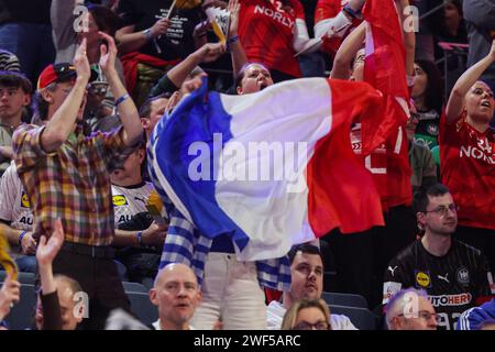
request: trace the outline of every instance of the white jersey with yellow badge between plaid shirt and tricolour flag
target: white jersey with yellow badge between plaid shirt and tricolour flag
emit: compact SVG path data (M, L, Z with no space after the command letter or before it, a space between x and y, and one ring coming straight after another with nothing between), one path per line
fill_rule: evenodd
M131 187L112 185L116 227L131 220L132 216L139 212L147 211L147 197L153 188L152 183L142 183Z

